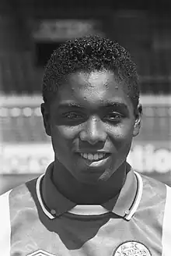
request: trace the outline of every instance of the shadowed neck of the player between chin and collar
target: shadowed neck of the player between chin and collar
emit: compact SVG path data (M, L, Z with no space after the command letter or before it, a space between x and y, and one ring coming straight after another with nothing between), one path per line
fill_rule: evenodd
M54 162L53 182L58 190L76 204L103 204L115 197L126 179L126 163L110 176L96 184L81 183L59 162Z

